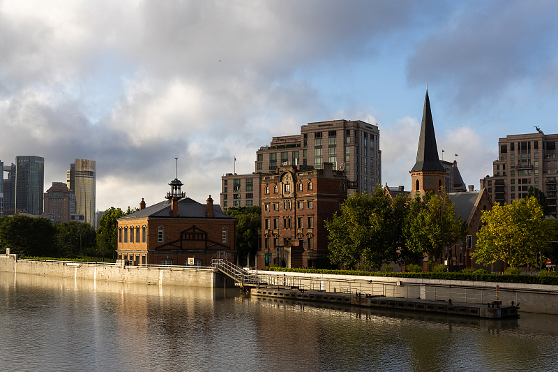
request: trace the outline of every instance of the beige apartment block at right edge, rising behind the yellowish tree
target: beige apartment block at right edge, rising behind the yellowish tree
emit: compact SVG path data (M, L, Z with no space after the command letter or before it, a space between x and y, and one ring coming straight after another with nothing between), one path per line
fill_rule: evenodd
M552 216L556 217L558 177L558 134L538 133L508 135L498 140L498 158L492 176L481 179L494 202L511 204L526 198L530 186L546 195Z

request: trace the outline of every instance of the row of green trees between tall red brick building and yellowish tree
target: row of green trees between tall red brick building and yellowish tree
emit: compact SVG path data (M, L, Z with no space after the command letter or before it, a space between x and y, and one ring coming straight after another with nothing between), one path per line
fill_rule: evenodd
M391 198L381 187L372 194L355 193L341 206L341 214L326 221L329 260L356 268L382 267L405 259L439 259L446 246L467 233L460 216L444 193L427 193L408 200Z

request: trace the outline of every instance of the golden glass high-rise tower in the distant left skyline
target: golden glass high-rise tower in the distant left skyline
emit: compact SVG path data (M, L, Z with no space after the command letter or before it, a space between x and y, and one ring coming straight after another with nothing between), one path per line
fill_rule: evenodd
M97 162L75 159L67 172L68 188L75 194L75 214L83 214L84 222L95 225Z

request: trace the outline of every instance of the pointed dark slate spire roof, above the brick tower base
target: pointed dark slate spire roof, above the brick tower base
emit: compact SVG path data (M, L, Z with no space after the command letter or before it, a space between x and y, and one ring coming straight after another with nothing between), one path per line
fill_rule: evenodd
M416 163L414 164L411 172L421 172L429 170L440 172L446 171L438 158L438 147L436 145L434 123L432 122L432 112L430 112L430 99L428 98L427 91L424 98L423 121L421 123L421 136L418 138Z

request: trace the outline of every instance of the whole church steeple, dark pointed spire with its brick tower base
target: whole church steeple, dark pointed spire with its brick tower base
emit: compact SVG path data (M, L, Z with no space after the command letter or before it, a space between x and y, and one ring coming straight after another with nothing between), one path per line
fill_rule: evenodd
M438 158L428 90L424 98L423 121L421 123L421 136L418 138L416 163L409 173L411 173L412 194L424 195L428 191L438 193L444 187L446 169Z

